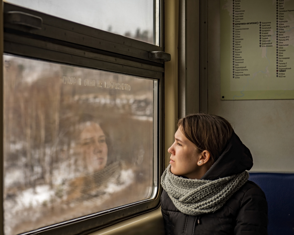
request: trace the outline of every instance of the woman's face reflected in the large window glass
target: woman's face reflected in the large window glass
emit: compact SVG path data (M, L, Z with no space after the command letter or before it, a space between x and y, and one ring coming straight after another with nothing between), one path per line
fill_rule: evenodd
M90 172L101 170L106 166L108 152L106 137L97 123L91 122L81 132L81 145Z

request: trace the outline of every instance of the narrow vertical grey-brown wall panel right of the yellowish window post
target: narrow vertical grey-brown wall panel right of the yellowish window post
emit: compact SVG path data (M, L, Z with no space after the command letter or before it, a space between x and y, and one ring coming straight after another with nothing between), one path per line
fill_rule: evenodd
M200 110L199 0L180 1L179 16L179 118L182 118Z

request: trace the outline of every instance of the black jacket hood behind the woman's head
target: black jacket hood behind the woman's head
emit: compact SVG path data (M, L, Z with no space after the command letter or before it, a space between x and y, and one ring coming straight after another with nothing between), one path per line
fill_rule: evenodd
M250 170L252 166L253 159L250 150L233 132L223 153L215 159L214 164L201 179L214 180L239 174L245 170Z

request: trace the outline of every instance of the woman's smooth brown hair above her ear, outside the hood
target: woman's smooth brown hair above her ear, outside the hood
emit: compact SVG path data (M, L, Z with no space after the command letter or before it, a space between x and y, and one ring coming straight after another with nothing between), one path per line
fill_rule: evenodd
M205 113L189 114L181 118L178 128L196 145L198 153L208 150L212 164L223 152L233 133L233 127L223 117Z

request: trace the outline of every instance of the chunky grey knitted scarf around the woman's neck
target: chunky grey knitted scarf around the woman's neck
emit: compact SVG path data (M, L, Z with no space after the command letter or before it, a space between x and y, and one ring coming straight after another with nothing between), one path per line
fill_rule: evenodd
M247 182L249 174L216 179L186 179L171 173L171 165L163 172L161 184L176 208L188 215L215 212Z

